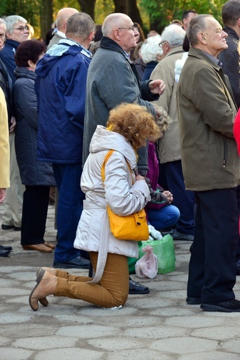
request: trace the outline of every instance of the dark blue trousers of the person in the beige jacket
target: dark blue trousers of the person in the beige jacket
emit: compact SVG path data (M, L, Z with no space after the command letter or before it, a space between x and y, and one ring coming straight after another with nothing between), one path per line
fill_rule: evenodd
M179 233L194 235L194 203L193 191L185 190L181 160L165 163L165 173L169 191L174 195L174 202L180 211L176 224Z

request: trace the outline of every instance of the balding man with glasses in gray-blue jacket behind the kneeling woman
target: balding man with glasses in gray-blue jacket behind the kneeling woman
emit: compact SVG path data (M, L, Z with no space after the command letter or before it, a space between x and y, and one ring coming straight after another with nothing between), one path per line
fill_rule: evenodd
M122 102L136 102L154 116L160 115L150 100L158 100L165 90L162 80L139 82L136 66L129 52L136 48L138 31L125 14L109 15L102 24L100 48L93 56L86 80L83 163L89 155L89 144L97 125L105 126L109 111ZM145 100L143 100L145 99ZM138 151L138 171L146 175L147 147ZM129 280L129 294L146 294L143 287Z

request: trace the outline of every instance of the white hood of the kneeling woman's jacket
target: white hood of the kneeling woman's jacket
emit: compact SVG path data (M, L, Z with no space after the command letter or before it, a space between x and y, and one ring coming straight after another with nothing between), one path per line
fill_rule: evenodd
M111 132L106 127L98 125L91 139L89 152L116 150L129 162L131 169L136 168L136 152L130 143L117 132Z

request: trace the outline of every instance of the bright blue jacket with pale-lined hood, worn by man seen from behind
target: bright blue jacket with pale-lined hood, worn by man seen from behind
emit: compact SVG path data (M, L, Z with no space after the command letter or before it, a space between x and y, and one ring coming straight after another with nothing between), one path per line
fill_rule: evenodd
M37 62L37 159L82 164L86 74L91 53L62 39Z

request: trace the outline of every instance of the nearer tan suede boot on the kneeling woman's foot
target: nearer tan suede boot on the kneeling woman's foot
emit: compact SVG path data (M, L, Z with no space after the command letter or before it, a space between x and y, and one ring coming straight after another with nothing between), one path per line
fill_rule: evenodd
M43 300L46 296L51 294L54 295L57 288L57 277L44 269L39 271L36 281L37 285L34 287L33 291L31 291L29 296L29 305L34 312L37 312L38 310L38 300Z

